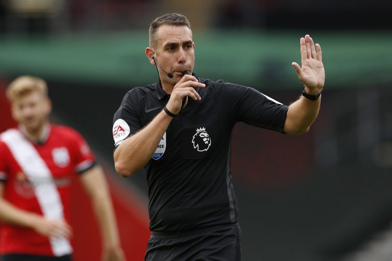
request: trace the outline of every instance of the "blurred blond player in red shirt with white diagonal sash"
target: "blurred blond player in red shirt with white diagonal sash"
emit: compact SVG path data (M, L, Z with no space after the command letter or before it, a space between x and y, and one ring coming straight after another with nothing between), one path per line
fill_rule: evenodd
M52 106L46 83L18 77L7 88L7 97L19 125L0 135L2 260L72 259L69 199L76 174L101 229L102 260L125 260L104 173L78 132L49 122Z

